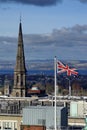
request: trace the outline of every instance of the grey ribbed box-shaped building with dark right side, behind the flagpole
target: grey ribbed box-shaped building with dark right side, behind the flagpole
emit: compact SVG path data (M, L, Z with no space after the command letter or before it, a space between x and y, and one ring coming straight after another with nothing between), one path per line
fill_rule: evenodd
M68 126L67 108L58 106L56 108L56 126L57 130L66 130ZM29 106L23 108L22 126L42 126L48 130L54 129L54 107L53 106ZM23 129L23 130L34 130ZM41 130L41 129L40 129Z

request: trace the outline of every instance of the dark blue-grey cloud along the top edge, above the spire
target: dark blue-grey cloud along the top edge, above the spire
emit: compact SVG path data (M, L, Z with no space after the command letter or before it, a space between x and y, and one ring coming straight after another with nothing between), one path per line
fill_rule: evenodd
M37 5L37 6L51 6L61 3L62 0L0 0L1 3L16 2L21 4Z

